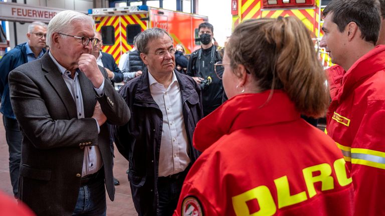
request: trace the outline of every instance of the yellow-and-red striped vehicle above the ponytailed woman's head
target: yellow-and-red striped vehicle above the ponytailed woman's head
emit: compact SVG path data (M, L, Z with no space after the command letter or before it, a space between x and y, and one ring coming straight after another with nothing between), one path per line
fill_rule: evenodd
M232 0L233 28L250 18L297 16L312 32L315 48L323 66L332 65L331 59L319 47L322 38L322 10L330 0ZM322 3L322 4L321 4Z

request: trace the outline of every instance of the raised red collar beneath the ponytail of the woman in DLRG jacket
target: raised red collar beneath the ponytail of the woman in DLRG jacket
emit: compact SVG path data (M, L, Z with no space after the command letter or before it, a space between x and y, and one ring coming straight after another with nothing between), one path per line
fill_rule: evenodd
M226 134L246 127L274 124L300 118L294 103L282 90L245 93L232 97L200 120L195 128L194 147L204 151Z

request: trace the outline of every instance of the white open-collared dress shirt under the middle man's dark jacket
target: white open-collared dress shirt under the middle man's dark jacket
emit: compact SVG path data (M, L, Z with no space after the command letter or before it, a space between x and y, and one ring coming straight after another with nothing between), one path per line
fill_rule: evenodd
M182 97L175 73L166 89L148 72L152 98L163 114L158 176L183 171L190 163L188 140L182 113Z

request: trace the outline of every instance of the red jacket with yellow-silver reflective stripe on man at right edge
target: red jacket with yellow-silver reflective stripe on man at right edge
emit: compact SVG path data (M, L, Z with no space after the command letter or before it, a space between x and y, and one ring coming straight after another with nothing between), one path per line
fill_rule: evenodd
M327 114L327 134L351 171L355 215L385 215L384 69L385 45L379 45L343 74Z

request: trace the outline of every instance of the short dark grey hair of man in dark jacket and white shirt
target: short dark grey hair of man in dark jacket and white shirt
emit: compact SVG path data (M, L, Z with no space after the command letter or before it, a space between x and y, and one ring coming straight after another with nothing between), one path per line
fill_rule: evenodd
M147 44L151 40L162 38L164 34L168 35L172 41L170 34L161 28L147 28L143 32L139 33L136 37L136 46L139 53L148 54Z

